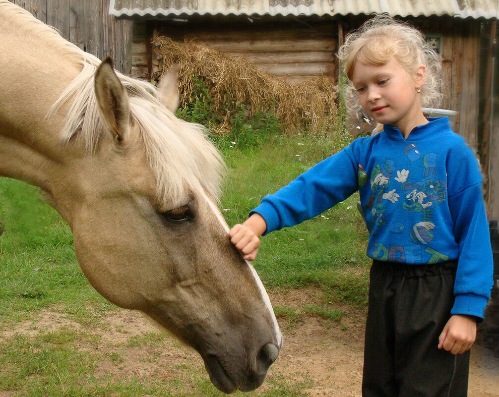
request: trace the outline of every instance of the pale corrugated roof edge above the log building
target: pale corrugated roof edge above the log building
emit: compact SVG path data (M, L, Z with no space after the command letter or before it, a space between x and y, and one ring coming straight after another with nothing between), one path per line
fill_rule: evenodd
M387 12L392 16L451 15L499 18L499 0L111 0L116 16L348 15Z

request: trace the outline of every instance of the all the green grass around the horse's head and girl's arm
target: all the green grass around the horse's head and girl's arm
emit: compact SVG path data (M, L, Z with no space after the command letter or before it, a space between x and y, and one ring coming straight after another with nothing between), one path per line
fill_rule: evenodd
M267 134L261 139L255 137L252 145L235 146L231 139L219 138L217 142L229 167L222 208L230 225L244 221L263 196L275 192L347 142L344 137L331 140L326 136ZM265 142L262 147L261 142ZM330 302L365 307L367 232L356 201L356 197L349 198L322 217L262 237L254 264L267 288L313 286L323 293L323 302L306 305L300 312L276 307L277 316L286 319L289 327L306 321L305 315L331 323L340 321L345 314L331 308ZM164 337L131 336L122 346L113 347L92 332L106 333L106 314L114 306L85 279L76 261L68 226L38 198L35 188L0 179L0 216L5 227L0 237L0 333L15 329L19 323L36 321L43 310L64 313L81 328L62 327L34 334L10 332L9 336L2 336L0 394L223 396L211 385L204 368L189 360L181 365L185 371L175 380L99 371L102 362L117 370L125 368L130 349L143 351L148 357L145 363L156 360ZM246 396L306 396L302 391L310 382L306 374L289 377L271 371L264 386Z

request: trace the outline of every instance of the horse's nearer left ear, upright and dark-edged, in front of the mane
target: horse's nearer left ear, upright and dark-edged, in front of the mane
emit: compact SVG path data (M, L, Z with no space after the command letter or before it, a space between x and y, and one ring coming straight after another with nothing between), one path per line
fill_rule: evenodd
M125 88L114 72L108 56L95 72L95 96L100 114L117 142L122 142L130 130L130 105Z

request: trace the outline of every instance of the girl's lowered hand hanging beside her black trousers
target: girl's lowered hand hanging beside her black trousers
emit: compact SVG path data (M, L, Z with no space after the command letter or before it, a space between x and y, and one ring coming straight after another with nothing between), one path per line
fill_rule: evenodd
M473 346L477 337L475 317L456 314L452 316L440 334L439 349L452 354L462 354Z

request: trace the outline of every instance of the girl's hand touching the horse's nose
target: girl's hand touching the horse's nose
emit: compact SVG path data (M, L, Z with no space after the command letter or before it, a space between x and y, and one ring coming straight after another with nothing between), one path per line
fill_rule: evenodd
M244 259L254 260L260 246L259 236L266 229L267 224L261 215L253 213L243 224L235 225L229 231L229 237L236 248L241 251Z

